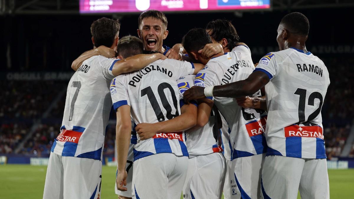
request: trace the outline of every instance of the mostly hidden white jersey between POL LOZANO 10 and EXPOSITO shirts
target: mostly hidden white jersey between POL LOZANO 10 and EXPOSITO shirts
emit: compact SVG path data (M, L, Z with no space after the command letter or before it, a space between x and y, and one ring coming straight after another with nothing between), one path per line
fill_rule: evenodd
M188 90L194 85L195 75L187 75L177 80L178 89L183 98L184 91ZM222 152L222 143L218 143L217 135L221 136L221 129L215 127L215 116L213 110L209 122L198 130L185 133L185 143L189 153L189 158L193 158L198 155L208 155L211 153ZM222 120L224 120L221 115Z

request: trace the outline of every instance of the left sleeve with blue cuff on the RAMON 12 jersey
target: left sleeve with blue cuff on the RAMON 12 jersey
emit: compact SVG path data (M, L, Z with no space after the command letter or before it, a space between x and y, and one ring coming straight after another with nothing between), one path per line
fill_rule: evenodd
M269 80L277 74L278 67L276 66L276 56L274 53L268 53L259 60L255 71L261 71L268 75Z

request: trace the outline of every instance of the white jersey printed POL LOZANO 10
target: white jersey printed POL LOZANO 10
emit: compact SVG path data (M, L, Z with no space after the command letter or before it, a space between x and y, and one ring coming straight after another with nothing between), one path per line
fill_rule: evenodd
M111 97L114 109L131 107L136 124L156 123L180 115L180 95L177 80L193 74L194 65L175 59L155 61L149 66L112 80ZM183 101L183 99L182 99ZM157 133L148 140L137 141L133 149L134 161L157 153L188 156L184 132Z

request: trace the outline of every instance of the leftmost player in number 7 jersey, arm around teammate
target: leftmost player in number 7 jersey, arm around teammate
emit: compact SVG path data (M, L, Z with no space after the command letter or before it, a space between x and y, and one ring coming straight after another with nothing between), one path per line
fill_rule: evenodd
M96 20L91 25L93 44L116 50L119 28L118 21ZM110 80L164 57L156 53L119 61L94 56L83 62L68 84L61 133L51 149L43 198L100 197L104 135L112 106Z

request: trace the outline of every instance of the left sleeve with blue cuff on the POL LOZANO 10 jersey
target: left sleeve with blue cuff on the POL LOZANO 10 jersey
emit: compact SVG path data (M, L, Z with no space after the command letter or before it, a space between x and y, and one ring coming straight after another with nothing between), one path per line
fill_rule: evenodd
M123 79L124 75L119 75L111 81L111 84L109 86L114 110L117 110L123 105L130 106L127 87L122 82Z

